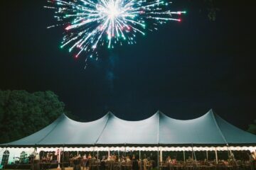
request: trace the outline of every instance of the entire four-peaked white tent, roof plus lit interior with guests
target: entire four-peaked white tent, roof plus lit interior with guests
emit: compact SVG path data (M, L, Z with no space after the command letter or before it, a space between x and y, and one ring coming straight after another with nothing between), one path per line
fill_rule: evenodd
M158 111L145 120L107 113L87 123L63 114L28 137L1 144L0 162L2 169L250 169L249 154L255 150L256 135L212 110L192 120Z

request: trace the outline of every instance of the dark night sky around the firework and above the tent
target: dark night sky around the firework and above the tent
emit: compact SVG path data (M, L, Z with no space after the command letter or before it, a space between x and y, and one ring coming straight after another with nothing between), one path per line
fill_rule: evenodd
M213 108L239 128L256 118L255 14L249 1L216 1L216 21L202 1L174 0L183 22L138 36L137 45L75 60L60 50L63 28L46 1L1 1L0 89L54 91L83 120L107 111L141 120L157 110L191 119Z

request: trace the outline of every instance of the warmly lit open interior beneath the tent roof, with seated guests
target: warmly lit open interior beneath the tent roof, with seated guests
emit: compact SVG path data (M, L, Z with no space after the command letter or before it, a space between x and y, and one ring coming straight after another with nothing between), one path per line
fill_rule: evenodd
M159 157L159 154L160 157ZM216 158L218 160L216 160ZM21 152L9 162L9 151L2 155L2 169L73 170L176 170L176 169L248 169L256 170L256 151L43 151Z

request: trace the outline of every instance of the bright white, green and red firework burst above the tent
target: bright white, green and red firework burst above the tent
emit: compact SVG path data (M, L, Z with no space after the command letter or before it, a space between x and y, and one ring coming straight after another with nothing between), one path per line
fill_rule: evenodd
M167 21L181 21L172 18L185 11L170 11L171 2L164 0L51 0L45 8L55 10L59 21L54 26L64 26L65 34L60 47L75 50L75 57L82 52L96 57L97 47L136 43L137 34L146 30L157 30L159 24ZM151 23L147 28L146 23ZM87 57L86 57L87 58Z

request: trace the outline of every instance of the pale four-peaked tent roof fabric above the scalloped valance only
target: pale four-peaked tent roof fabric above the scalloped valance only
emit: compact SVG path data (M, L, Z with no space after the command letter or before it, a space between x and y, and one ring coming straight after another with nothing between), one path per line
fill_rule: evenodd
M33 145L241 145L255 143L256 135L236 128L210 110L200 118L192 120L176 120L158 111L145 120L121 120L112 113L107 113L99 120L88 123L71 120L63 114L33 135L3 145L26 147Z

